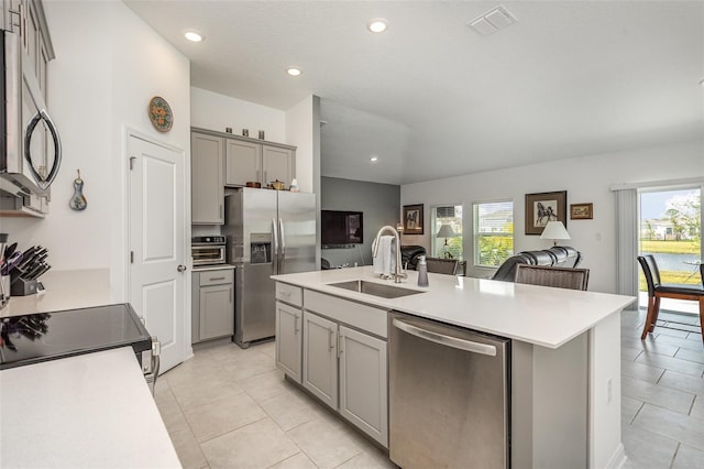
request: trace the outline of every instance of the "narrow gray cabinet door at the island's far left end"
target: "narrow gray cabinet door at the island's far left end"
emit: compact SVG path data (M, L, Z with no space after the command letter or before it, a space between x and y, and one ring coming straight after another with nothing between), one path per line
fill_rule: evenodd
M302 350L300 309L276 302L276 367L300 383Z

